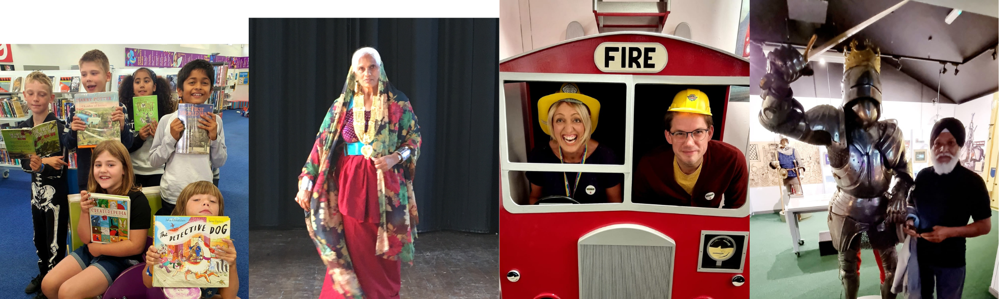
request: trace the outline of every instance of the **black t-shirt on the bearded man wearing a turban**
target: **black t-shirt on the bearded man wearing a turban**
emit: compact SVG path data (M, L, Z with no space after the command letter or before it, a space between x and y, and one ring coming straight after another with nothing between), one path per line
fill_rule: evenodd
M992 216L988 189L977 173L958 164L947 174L937 174L926 167L916 175L915 189L909 195L919 213L917 232L933 231L934 225L964 226ZM965 265L965 238L951 237L939 243L919 238L916 251L920 264L938 267Z

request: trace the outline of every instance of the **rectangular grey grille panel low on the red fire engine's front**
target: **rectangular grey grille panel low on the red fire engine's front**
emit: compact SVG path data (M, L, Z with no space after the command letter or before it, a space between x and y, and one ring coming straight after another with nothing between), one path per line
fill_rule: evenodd
M579 298L668 299L673 247L579 245Z

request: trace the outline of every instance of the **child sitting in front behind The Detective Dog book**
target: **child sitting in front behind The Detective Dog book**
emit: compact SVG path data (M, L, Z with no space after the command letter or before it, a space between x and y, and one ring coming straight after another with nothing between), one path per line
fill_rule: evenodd
M225 216L225 200L222 192L211 181L199 180L188 184L181 190L177 197L177 206L170 213L173 216ZM232 239L224 239L228 247L215 247L215 257L229 263L229 287L202 289L202 298L205 299L233 299L240 290L240 279L236 270L236 246ZM142 281L147 288L153 287L152 271L156 265L161 264L160 252L156 246L149 246L146 251L146 275Z

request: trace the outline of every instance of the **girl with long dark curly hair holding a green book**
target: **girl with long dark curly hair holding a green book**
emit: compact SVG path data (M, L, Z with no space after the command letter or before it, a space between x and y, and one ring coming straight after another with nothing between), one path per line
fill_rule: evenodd
M132 84L128 84L130 82ZM122 80L118 98L125 107L134 108L133 98L146 96L156 96L157 116L166 116L174 112L170 83L164 78L157 77L153 70L140 68ZM135 129L132 147L128 149L132 155L132 166L135 167L135 183L140 186L160 185L163 165L154 167L149 163L149 151L153 149L153 143L149 139L156 134L159 118L154 116L146 121L148 124L143 128L135 128L136 120L144 118L144 116L135 116L135 113L137 113L135 109L128 111L128 118L133 122L131 127Z

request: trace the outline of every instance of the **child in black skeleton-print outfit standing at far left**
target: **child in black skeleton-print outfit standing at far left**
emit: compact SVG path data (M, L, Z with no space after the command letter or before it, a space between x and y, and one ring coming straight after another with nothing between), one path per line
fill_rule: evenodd
M24 81L24 100L31 110L27 121L17 128L31 129L56 122L60 140L59 152L44 156L32 155L21 160L21 167L31 173L31 221L34 224L35 253L38 254L38 275L24 288L25 293L41 291L42 279L66 256L66 233L69 229L69 202L66 199L66 147L63 130L66 125L49 111L56 96L52 81L42 72L32 72ZM38 295L35 298L44 297Z

